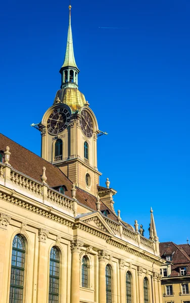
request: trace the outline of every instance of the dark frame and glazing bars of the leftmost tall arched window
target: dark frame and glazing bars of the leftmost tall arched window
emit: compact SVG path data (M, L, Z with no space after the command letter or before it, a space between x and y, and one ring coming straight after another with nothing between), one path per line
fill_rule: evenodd
M16 245L17 247L14 247L14 240L15 239L22 239L22 243L24 244L24 249L21 249L18 247L18 243L19 241L16 241ZM14 254L15 252L15 254ZM20 254L19 254L20 253ZM14 258L15 257L15 258ZM23 259L23 262L19 262L20 259ZM15 262L16 265L13 265L13 262ZM22 263L23 267L18 266L17 263ZM26 264L26 243L25 243L25 239L21 234L16 234L13 238L12 241L12 254L11 254L11 275L10 275L10 290L9 290L9 302L10 303L14 303L15 301L17 301L18 303L22 303L23 302L23 298L24 298L24 286L25 286L25 277L24 277L24 273L25 273L25 264ZM15 274L14 271L15 270ZM23 274L21 275L22 277L22 285L18 285L17 282L17 278L18 278L18 271L22 272ZM14 277L15 276L15 277ZM15 283L11 283L12 280L15 279ZM15 290L22 290L21 291L21 299L17 299L15 298ZM14 290L13 292L11 292L11 290ZM13 293L13 297L11 296L11 293Z

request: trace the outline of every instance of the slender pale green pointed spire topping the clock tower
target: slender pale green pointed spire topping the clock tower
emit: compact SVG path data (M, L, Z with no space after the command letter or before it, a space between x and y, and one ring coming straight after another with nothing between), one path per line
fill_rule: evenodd
M72 29L71 29L71 5L69 6L69 27L68 27L68 35L67 35L67 47L66 47L65 59L62 68L67 66L76 67L78 69L75 62L74 51L73 51L73 37L72 37Z

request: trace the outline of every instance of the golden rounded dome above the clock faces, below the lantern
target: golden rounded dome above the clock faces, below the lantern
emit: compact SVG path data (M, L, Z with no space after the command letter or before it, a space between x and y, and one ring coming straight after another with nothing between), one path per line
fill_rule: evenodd
M59 102L67 104L73 112L76 112L86 104L86 99L77 88L67 87L57 91L54 104Z

